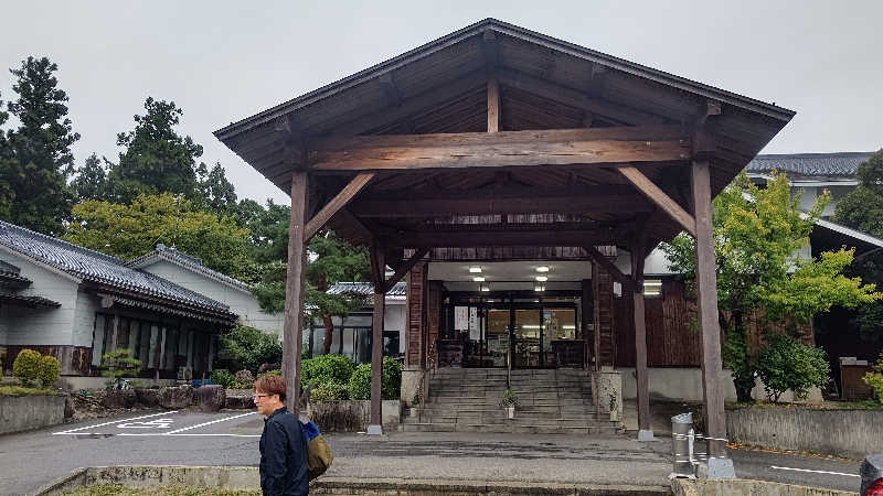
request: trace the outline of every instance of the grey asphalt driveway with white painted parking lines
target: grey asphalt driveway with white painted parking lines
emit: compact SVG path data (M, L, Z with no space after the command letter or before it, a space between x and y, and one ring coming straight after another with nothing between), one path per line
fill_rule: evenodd
M129 414L0 436L0 494L28 494L74 468L102 465L257 465L254 412ZM671 441L393 432L327 434L340 477L667 485ZM743 478L858 490L859 462L731 451ZM811 471L811 472L805 472Z

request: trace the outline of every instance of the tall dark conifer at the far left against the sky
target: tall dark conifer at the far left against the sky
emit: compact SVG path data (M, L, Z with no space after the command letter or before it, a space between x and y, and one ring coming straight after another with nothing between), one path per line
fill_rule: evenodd
M7 106L20 126L7 132L0 168L0 214L6 220L49 235L62 231L71 212L66 179L73 173L71 145L79 139L67 116L67 94L58 88L58 66L28 57L17 69L15 101ZM0 121L6 116L0 117Z

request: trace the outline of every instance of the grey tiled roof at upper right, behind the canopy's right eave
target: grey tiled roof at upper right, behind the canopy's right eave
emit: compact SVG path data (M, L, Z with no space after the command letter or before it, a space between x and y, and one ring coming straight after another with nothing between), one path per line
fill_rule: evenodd
M872 152L797 153L757 155L745 168L748 173L772 171L810 177L854 177Z

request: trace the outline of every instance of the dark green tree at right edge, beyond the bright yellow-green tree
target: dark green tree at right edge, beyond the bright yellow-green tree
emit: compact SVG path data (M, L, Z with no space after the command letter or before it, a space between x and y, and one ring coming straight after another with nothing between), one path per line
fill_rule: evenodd
M859 165L859 185L837 204L834 220L883 238L883 149ZM883 284L883 252L870 252L855 260L852 274ZM864 305L852 324L866 342L883 345L883 302Z

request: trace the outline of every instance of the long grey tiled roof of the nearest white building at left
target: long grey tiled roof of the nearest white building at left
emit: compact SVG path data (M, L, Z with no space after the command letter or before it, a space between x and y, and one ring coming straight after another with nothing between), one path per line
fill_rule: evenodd
M119 258L2 220L0 245L83 280L230 314L227 305L166 279L127 267Z

